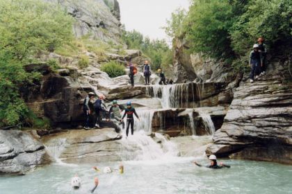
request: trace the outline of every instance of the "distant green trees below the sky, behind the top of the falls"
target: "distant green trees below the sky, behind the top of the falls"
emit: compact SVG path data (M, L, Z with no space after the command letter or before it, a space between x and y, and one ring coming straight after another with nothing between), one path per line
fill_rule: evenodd
M136 30L131 32L124 31L122 39L128 48L139 49L147 58L150 58L152 69L156 70L165 64L172 64L171 50L164 39L150 40L149 37L143 37Z

